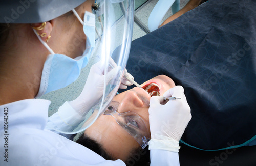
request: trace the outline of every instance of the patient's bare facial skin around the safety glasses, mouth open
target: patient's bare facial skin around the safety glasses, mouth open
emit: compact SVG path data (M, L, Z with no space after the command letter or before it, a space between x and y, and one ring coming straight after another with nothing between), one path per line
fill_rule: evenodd
M168 89L175 87L173 80L165 75L154 77L144 82L141 87L146 89L152 83L158 85L160 96ZM132 111L137 113L144 120L148 131L150 131L148 108L151 96L143 89L135 87L116 95L113 101L119 102L117 112ZM150 92L153 89L158 88L153 85L148 91ZM140 147L134 137L117 124L111 115L101 115L84 133L100 143L116 159L126 160L131 150Z

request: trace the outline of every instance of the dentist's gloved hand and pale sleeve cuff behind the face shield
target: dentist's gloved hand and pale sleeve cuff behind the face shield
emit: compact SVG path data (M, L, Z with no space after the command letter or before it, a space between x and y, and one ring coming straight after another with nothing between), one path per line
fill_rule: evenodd
M77 125L79 125L84 120L84 115L97 104L98 100L103 95L104 90L104 77L106 76L106 82L115 78L121 73L121 67L115 64L112 58L110 58L110 66L108 71L105 73L105 65L101 61L94 64L89 72L86 84L81 92L81 94L73 101L67 101L62 106L59 107L58 112L51 116L48 124L52 126L58 126L58 129L63 131L71 131ZM112 68L113 67L113 68ZM129 75L133 78L129 73ZM120 85L121 88L127 88L127 85L132 85L126 79L122 79Z

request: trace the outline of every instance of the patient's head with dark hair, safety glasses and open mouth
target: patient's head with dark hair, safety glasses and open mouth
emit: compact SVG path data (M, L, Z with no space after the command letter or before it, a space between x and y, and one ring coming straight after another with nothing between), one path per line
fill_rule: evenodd
M150 153L147 148L142 150L141 141L150 139L148 108L151 95L147 92L154 91L152 95L162 96L175 84L169 77L159 75L141 87L143 89L135 87L116 95L105 113L84 131L77 143L105 159L121 159L127 165L134 165L135 161L137 165L149 165Z

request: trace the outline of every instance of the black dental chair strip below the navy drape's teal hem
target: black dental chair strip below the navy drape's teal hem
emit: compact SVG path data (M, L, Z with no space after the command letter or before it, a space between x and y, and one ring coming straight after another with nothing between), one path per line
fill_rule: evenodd
M181 144L180 166L255 166L256 146L202 151Z

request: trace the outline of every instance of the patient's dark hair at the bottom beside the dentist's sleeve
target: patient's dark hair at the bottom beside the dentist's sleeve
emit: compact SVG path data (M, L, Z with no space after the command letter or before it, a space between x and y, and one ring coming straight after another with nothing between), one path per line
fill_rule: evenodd
M87 147L88 149L91 149L106 160L116 160L116 158L112 154L108 153L108 151L99 143L93 139L90 139L90 137L86 136L85 134L83 134L76 142ZM135 148L130 154L131 155L127 157L126 161L124 161L126 165L150 165L150 150L148 150L148 147L145 149L142 149L141 147Z

